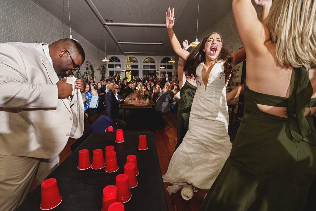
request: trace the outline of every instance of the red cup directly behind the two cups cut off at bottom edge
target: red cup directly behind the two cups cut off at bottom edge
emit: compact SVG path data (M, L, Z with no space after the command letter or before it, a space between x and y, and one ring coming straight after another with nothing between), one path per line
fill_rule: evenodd
M119 174L116 176L115 186L118 189L119 202L125 203L130 201L132 194L128 184L128 176L126 174Z

